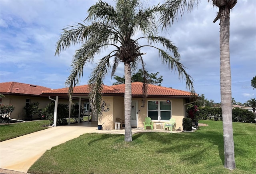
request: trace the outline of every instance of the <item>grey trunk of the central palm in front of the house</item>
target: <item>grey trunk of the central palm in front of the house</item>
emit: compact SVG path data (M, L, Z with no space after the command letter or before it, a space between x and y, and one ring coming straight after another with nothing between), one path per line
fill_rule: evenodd
M124 62L124 141L132 141L132 125L131 125L131 110L132 110L132 77L131 64Z

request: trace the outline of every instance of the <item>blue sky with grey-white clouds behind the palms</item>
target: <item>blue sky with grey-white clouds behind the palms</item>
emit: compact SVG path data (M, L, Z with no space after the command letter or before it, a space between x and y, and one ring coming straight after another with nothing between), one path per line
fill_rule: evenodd
M82 22L88 8L96 0L0 0L0 82L21 82L52 89L64 88L70 74L74 51L72 46L54 56L56 42L62 29ZM105 0L114 4L113 0ZM144 1L146 6L163 1ZM185 13L167 30L159 30L158 36L170 39L181 56L181 63L194 80L197 94L208 100L220 102L220 45L218 8L207 0L201 0L197 8ZM139 34L139 33L138 33ZM95 60L111 50L104 50ZM163 76L162 86L189 91L178 75L161 64L158 51L144 48L143 56L149 73L159 72ZM80 85L87 84L96 62L84 67ZM256 76L256 1L238 0L230 13L230 65L232 97L245 103L256 98L256 89L250 82ZM141 68L138 66L138 68ZM124 65L116 70L124 75ZM115 82L110 72L104 84Z

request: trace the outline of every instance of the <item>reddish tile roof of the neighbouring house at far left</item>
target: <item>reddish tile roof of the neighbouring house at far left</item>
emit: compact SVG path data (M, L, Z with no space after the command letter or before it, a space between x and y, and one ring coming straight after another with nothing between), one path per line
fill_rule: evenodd
M19 82L0 83L1 94L23 94L23 95L40 95L44 90L50 90L43 86L24 84Z

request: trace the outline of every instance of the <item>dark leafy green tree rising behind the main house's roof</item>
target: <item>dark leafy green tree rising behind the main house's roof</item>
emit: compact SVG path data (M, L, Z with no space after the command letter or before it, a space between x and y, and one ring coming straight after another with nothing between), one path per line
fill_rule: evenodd
M145 79L144 74L146 76L146 79ZM139 69L137 73L132 75L132 82L142 82L143 83L145 80L147 80L148 84L154 84L154 85L161 86L161 83L163 82L163 76L157 77L158 74L159 74L159 72L148 74L148 71L144 70L144 72L143 72L142 69ZM113 85L125 83L124 76L123 77L114 76L114 79L117 82L113 83Z

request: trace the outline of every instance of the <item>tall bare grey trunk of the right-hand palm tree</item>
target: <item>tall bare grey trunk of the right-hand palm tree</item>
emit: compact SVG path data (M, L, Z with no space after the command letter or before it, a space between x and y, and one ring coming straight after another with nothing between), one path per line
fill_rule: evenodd
M220 9L220 96L223 118L224 138L224 166L228 169L235 169L234 140L232 128L232 95L231 95L231 70L229 51L229 15L230 10ZM226 12L225 16L225 10Z

